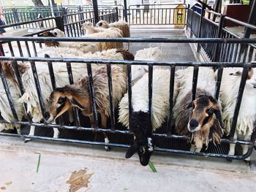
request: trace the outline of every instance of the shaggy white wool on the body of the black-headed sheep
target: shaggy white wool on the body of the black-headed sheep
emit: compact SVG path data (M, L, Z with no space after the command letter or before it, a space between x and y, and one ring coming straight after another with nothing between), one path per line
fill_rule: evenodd
M152 126L153 131L162 126L169 111L169 85L170 70L155 69L153 72L153 91L152 91ZM174 83L175 101L177 95L177 85ZM148 74L135 82L132 86L132 108L134 112L148 112ZM129 127L129 108L128 93L121 99L119 104L118 121L124 126Z

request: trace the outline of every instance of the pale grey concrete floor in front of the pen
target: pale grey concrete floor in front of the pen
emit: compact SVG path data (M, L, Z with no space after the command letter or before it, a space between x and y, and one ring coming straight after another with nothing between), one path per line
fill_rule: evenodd
M75 171L85 170L78 191L254 191L256 172L242 161L157 154L157 173L140 166L138 157L125 159L125 150L1 138L0 191L69 191ZM39 171L37 162L41 154ZM71 189L71 191L73 191Z

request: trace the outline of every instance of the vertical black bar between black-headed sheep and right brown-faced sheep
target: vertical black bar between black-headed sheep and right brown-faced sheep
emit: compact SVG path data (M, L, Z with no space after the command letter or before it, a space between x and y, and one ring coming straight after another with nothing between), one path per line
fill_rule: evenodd
M171 126L173 120L173 92L174 92L175 66L170 66L170 95L169 95L169 114L167 117L167 135L171 134Z

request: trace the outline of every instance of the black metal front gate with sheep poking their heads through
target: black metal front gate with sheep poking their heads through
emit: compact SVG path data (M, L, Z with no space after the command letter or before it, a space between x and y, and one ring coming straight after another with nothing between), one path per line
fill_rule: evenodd
M70 15L72 16L72 15ZM56 21L56 26L60 26L61 22L54 18ZM17 26L34 26L35 23L39 21L46 21L48 19L42 19L42 20L36 20L33 22L26 22L16 25L10 25L6 27L17 27ZM70 22L70 21L69 21ZM76 22L79 22L76 21ZM131 102L132 102L132 84L131 84L131 66L134 65L146 65L148 66L148 96L152 96L152 77L154 75L154 68L155 66L165 66L167 69L170 69L170 111L167 119L165 120L164 125L157 129L157 132L153 134L155 143L156 143L156 151L159 152L167 152L167 153L177 153L177 154L187 154L187 155L200 155L204 157L217 157L217 158L229 158L229 159L244 159L249 157L252 154L253 147L255 146L255 139L256 139L256 129L254 128L254 131L252 133L252 137L249 141L243 141L243 140L235 140L233 139L233 135L229 138L222 138L222 144L214 146L211 142L209 147L206 149L204 148L200 153L196 152L190 152L189 151L189 144L187 143L188 137L180 136L177 134L173 134L173 127L172 125L172 115L173 115L173 82L176 80L175 78L175 71L178 66L193 66L194 67L194 77L192 82L192 95L195 96L196 92L196 85L197 85L197 75L198 70L200 70L200 67L202 66L212 66L215 69L218 70L218 79L216 84L216 94L215 97L218 98L219 96L219 87L220 82L222 79L222 70L226 67L242 67L243 70L243 76L241 78L241 85L239 88L238 93L238 99L236 103L236 109L234 112L234 118L233 118L233 126L231 128L231 133L235 132L236 128L236 121L238 117L239 107L241 104L241 97L242 93L244 91L245 81L246 81L246 74L249 71L250 67L256 67L255 62L246 62L246 61L223 61L223 62L160 62L160 61L111 61L111 60L99 60L99 59L86 59L86 58L37 58L37 52L41 46L37 45L38 42L45 42L51 41L51 42L152 42L152 43L200 43L201 45L211 43L213 45L221 45L222 52L225 51L225 47L229 47L232 45L246 45L249 46L249 44L255 44L255 39L229 39L229 38L203 38L203 39L151 39L151 38L127 38L127 39L104 39L104 38L97 38L97 39L89 39L89 38L83 38L79 37L80 32L76 28L76 22L70 22L67 26L61 26L62 29L65 28L65 31L73 31L73 33L77 34L71 34L70 32L67 34L69 37L66 38L56 38L56 37L37 37L38 34L40 34L42 31L37 31L32 34L29 34L29 37L1 37L1 51L3 51L3 45L8 46L10 50L10 55L4 55L1 56L1 61L12 61L12 66L15 70L15 77L18 80L18 88L20 89L21 95L25 92L23 88L23 82L22 82L22 74L20 74L18 70L18 61L28 62L29 66L31 67L31 70L33 71L33 77L34 82L37 85L37 98L40 104L40 110L42 112L42 117L45 116L45 103L42 99L42 90L40 88L40 85L42 82L40 82L37 74L37 63L39 62L45 62L48 64L48 70L50 74L50 80L51 80L51 87L56 87L56 82L54 79L54 73L53 68L56 62L63 63L67 65L67 73L69 74L69 82L70 84L73 82L72 77L72 66L75 66L78 63L84 63L86 64L86 68L88 69L88 77L91 77L91 65L92 64L102 64L103 66L106 66L108 69L108 87L111 88L111 67L113 64L121 65L121 66L127 66L127 92L129 94L129 112L132 112ZM62 20L62 24L64 24L64 21ZM56 26L53 26L53 28L56 28ZM75 26L75 29L73 28ZM1 26L1 28L4 28L4 26ZM45 30L44 30L45 31ZM223 46L222 46L223 45ZM5 47L6 49L7 47ZM34 54L33 54L34 53ZM245 55L247 52L245 53ZM94 120L97 122L94 127L91 127L88 123L88 119L82 118L82 116L79 113L75 112L74 119L75 119L75 126L69 124L69 122L66 122L61 118L59 118L59 123L57 124L49 124L45 120L42 120L42 122L33 122L31 120L31 115L26 114L26 120L18 120L18 115L15 110L15 104L14 100L12 99L12 96L10 94L10 87L7 83L7 77L4 75L2 66L0 66L0 77L1 81L4 85L4 90L7 95L8 102L10 104L10 109L12 110L12 116L13 119L12 122L7 122L7 120L4 120L4 118L1 118L0 123L13 123L13 124L20 124L22 126L22 134L14 134L14 133L4 133L1 132L0 135L2 137L20 137L21 139L43 139L43 140L50 140L50 141L56 141L56 142L73 142L73 143L81 143L81 144L87 144L87 145L105 145L109 147L129 147L129 143L133 140L132 133L130 133L127 128L124 128L119 123L117 123L116 118L118 116L118 113L113 110L113 104L111 104L111 98L113 96L112 90L109 90L109 98L110 98L110 107L111 111L113 111L110 114L110 119L108 122L108 128L102 128L99 126L99 121L97 117L97 111L96 111L96 104L94 101L94 84L92 78L89 78L89 88L91 90L91 98L92 103L94 107L92 107L92 111L94 114ZM148 105L149 109L151 109L151 101L152 98L149 97L148 99ZM26 104L24 104L24 108L26 109ZM26 110L27 111L27 110ZM149 111L151 113L151 110ZM129 113L130 117L131 113ZM37 126L37 129L39 131L36 132L36 136L29 136L28 135L28 127L29 126ZM59 128L61 130L61 136L60 138L53 138L52 137L52 128ZM93 132L105 132L108 134L110 138L110 143L102 142L102 138L99 138L98 140L94 140L93 138ZM249 145L249 149L246 154L244 155L227 155L228 152L228 144L230 143L236 143L240 145Z

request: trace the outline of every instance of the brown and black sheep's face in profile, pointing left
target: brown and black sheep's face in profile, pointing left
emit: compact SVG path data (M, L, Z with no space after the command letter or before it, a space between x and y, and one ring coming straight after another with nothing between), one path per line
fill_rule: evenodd
M84 99L79 96L75 96L75 89L72 85L64 88L56 88L50 93L50 98L45 112L45 120L48 123L53 122L56 118L59 118L64 112L69 110L70 107L78 107L80 110L86 110L91 106L89 99ZM88 109L91 109L88 107Z

